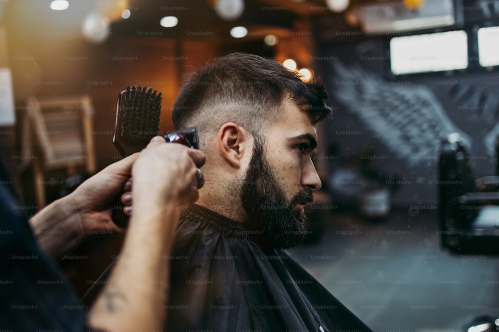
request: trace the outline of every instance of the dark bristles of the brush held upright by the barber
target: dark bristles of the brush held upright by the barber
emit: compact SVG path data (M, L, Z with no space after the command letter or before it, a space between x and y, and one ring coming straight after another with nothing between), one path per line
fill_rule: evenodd
M152 88L126 88L122 137L128 141L148 141L159 133L161 92Z

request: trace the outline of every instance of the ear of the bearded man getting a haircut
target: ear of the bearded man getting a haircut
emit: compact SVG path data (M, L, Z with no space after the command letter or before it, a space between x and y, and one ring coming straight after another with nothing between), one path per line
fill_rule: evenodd
M222 157L234 167L240 168L249 147L249 133L236 123L227 122L220 127L217 138Z

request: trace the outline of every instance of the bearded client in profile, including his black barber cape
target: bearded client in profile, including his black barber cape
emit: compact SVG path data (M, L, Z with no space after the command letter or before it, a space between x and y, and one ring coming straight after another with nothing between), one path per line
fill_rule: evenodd
M371 331L283 250L321 186L311 155L326 99L319 80L245 53L184 83L173 122L197 127L205 185L178 226L167 331Z

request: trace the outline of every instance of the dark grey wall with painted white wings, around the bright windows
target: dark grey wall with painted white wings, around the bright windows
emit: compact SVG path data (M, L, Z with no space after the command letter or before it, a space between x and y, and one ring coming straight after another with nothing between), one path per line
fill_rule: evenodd
M489 12L489 17L474 11L465 11L464 14L462 26L456 29L465 29L469 35L468 69L400 77L394 76L390 71L389 40L396 34L368 37L346 26L343 31L333 31L332 23L327 20L316 22L314 31L317 31L319 47L315 54L318 59L315 68L322 72L331 96L330 104L335 109L333 117L322 126L326 141L325 153L329 159L325 163L326 173L329 174L331 186L337 184L335 174L338 170L358 171L361 164L366 163L366 156L372 156L373 160L368 162L368 167L379 175L379 182L393 189L394 206L410 208L413 205L429 205L431 209L437 208L438 152L435 151L435 146L438 147L439 142L435 138L446 137L453 130L442 130L441 126L428 128L427 118L418 119L415 115L418 112L433 112L425 110L424 106L411 105L405 102L407 99L394 105L400 99L397 91L403 91L408 98L414 98L422 90L431 94L431 102L439 104L452 126L469 138L469 161L476 175L494 175L495 156L487 150L484 140L488 135L498 134L494 127L499 122L499 73L493 68L485 69L478 64L476 31L482 26L498 25L499 21L493 11ZM413 33L407 32L401 35L411 34ZM345 85L354 91L347 102L341 98ZM363 94L370 89L378 94L382 92L383 96L377 99L369 97L369 106L366 107ZM423 95L423 99L427 97ZM390 114L389 116L406 114L405 121L402 119L391 127L380 129L377 128L380 125L378 122L370 122L359 116L361 112L379 110ZM438 120L436 114L428 116ZM425 139L421 139L424 144L434 146L433 152L426 154L424 162L411 160L411 156L401 157L400 153L394 153L387 144L387 141L397 139L396 136L404 131L418 133L422 137L426 135L432 140L425 142ZM384 138L379 136L380 132L384 132ZM404 150L413 144L418 143L401 142L400 149ZM357 179L357 182L347 185L352 192L362 190L369 182L366 178ZM397 184L396 188L392 184ZM336 203L352 203L352 200L352 197L348 198L346 195Z

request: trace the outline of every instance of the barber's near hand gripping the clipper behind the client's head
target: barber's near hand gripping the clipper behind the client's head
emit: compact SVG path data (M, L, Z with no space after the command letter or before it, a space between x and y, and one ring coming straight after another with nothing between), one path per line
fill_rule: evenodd
M154 137L132 167L134 210L183 209L195 202L199 167L204 163L205 155L200 150L165 144L162 137ZM126 200L127 194L122 196L122 202L129 206L131 199Z

